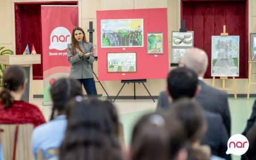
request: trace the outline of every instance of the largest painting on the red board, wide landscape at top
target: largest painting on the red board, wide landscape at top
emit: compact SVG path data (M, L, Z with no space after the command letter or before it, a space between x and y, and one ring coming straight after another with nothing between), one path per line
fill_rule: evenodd
M143 19L101 20L101 47L143 47Z

